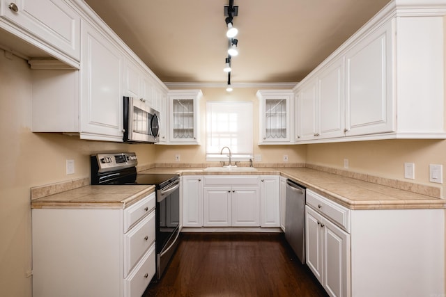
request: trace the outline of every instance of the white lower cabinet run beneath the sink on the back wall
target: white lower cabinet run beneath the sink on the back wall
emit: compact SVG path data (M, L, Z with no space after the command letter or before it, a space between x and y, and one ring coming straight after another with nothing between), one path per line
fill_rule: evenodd
M183 176L184 227L279 227L278 175Z

